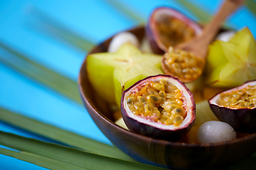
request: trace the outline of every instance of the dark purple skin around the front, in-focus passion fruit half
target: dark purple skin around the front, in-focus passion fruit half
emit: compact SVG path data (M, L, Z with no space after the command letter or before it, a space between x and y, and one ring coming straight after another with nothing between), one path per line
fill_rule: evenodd
M172 77L170 75L161 75L161 74L159 74L157 76L146 77L145 79L150 79L152 77L158 77L158 76L160 76L160 77L171 77L172 79L176 79L177 80L177 78ZM127 111L125 110L124 103L123 103L123 101L124 101L124 94L126 94L126 92L129 91L129 89L133 88L134 86L137 86L137 84L139 84L141 81L144 81L145 79L137 81L137 83L135 83L134 85L130 86L122 94L121 113L122 113L122 118L124 119L124 123L127 125L127 128L130 131L136 132L136 133L141 134L141 135L145 135L145 136L152 137L152 138L159 139L159 140L168 140L168 141L173 141L173 142L175 142L177 140L180 140L183 136L185 136L188 133L189 130L191 130L191 128L193 126L193 123L195 121L195 118L196 118L196 106L195 106L195 101L194 100L191 101L193 103L193 108L191 108L193 110L192 111L193 121L188 122L186 127L183 127L182 129L179 129L179 130L163 130L163 129L159 129L159 128L153 127L151 125L146 125L145 123L140 123L139 121L134 120L133 118L130 118L127 115ZM181 81L180 81L180 83L183 84ZM191 94L191 98L193 99L193 94L191 93L191 91L189 91L189 93Z

